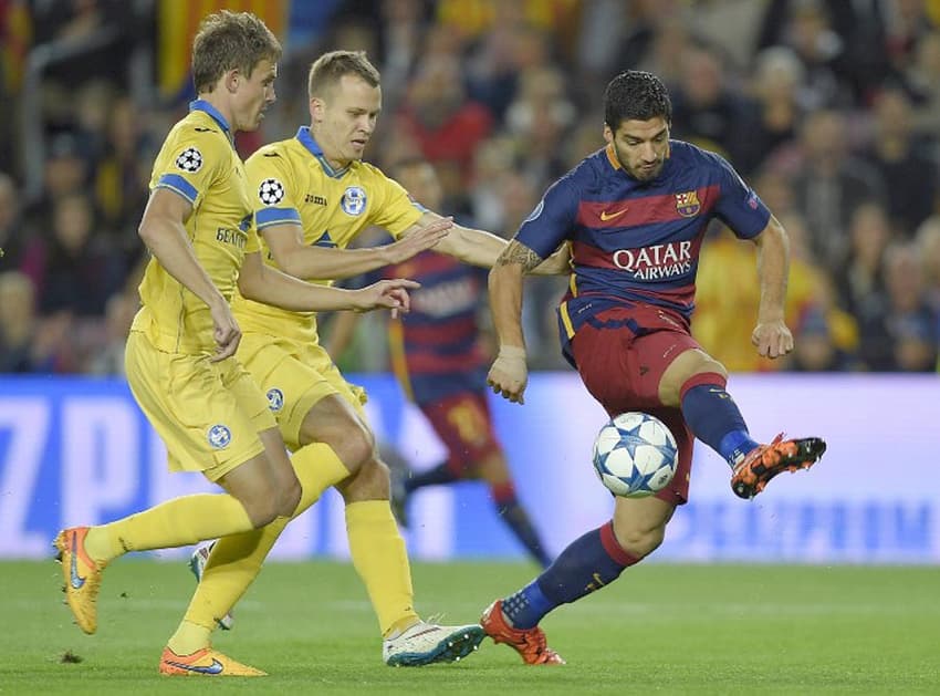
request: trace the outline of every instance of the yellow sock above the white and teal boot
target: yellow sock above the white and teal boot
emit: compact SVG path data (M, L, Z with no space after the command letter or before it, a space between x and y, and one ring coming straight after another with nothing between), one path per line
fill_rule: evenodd
M347 505L346 533L353 565L366 585L382 634L417 622L408 553L388 500Z

